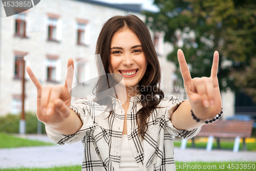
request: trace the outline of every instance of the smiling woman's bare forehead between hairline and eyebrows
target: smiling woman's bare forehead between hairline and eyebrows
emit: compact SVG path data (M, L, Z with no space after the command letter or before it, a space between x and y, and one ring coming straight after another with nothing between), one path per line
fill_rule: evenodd
M111 40L111 47L131 48L134 45L141 45L141 42L139 37L129 29L122 29L116 32Z

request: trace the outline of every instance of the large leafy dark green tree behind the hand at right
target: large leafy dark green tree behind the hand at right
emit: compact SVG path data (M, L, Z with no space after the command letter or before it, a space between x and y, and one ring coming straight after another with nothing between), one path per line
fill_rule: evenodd
M220 90L242 89L256 102L253 76L256 3L239 0L155 0L154 3L160 12L146 12L146 24L152 30L165 31L164 40L173 43L175 50L167 56L169 60L179 67L177 50L181 48L191 66L191 77L209 76L217 50Z

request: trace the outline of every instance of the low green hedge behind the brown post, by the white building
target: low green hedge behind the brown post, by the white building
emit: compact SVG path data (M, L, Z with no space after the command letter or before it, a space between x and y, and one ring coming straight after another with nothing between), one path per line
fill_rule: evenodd
M20 115L7 114L0 117L0 132L4 133L19 133L19 120ZM26 113L26 133L36 134L37 133L37 117L35 113ZM42 134L46 134L45 124L41 123Z

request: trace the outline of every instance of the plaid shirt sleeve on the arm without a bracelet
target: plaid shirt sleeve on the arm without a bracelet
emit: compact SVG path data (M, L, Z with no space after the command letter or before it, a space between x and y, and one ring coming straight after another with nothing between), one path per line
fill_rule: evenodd
M72 144L80 141L88 131L95 127L92 117L88 111L88 104L88 100L78 99L70 105L70 109L72 109L82 121L82 127L79 131L72 135L62 135L46 126L48 137L59 145L63 145L65 143Z

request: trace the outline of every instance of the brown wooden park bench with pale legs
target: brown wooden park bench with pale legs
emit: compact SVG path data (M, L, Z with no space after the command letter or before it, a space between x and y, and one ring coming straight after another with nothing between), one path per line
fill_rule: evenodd
M240 138L243 138L243 147L246 150L245 138L250 138L252 133L253 120L234 121L234 120L217 120L202 126L201 131L196 137L208 137L206 151L211 151L214 138L217 139L218 148L220 148L220 138L235 138L233 152L239 151ZM194 138L192 138L193 147L195 147ZM181 149L186 148L186 139L181 141Z

